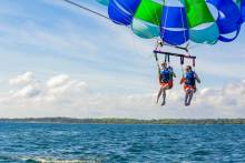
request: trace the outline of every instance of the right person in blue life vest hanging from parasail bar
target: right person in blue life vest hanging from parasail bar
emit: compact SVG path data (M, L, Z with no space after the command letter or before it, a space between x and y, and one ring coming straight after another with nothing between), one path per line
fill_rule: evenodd
M184 84L185 94L185 105L190 105L193 94L196 92L196 81L200 83L200 80L190 65L186 67L186 73L180 80L180 84Z

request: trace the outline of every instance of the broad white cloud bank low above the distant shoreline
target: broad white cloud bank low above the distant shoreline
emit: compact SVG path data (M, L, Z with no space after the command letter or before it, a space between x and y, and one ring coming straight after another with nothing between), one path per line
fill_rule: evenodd
M244 118L245 80L222 89L202 89L193 105L183 106L183 90L167 92L167 105L155 104L156 94L102 93L82 80L58 74L43 81L33 78L0 98L2 116L74 116L74 118ZM39 83L35 81L41 81ZM22 82L20 82L22 83Z

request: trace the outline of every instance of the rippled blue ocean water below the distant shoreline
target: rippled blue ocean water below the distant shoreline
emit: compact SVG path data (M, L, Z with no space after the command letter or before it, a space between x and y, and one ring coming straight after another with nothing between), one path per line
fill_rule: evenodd
M0 123L0 162L245 163L245 125Z

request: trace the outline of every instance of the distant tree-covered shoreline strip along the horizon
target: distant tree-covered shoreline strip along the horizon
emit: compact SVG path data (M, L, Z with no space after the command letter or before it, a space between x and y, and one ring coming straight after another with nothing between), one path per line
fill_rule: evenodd
M27 118L0 119L0 122L57 123L57 124L245 124L245 119L72 119L72 118Z

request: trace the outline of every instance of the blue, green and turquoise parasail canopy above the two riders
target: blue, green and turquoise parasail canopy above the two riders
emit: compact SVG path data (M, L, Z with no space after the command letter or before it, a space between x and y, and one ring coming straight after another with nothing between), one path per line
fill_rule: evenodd
M180 45L235 40L245 21L245 0L97 0L117 24L145 39Z

